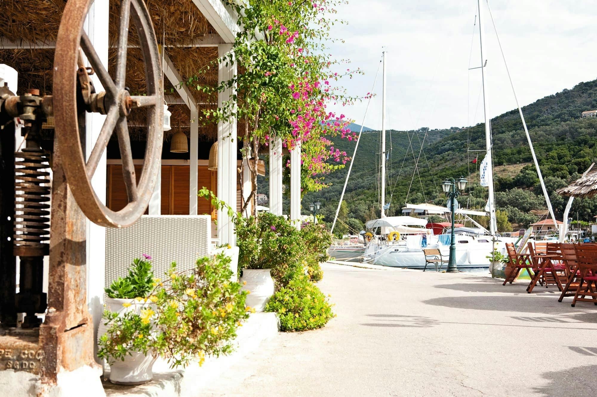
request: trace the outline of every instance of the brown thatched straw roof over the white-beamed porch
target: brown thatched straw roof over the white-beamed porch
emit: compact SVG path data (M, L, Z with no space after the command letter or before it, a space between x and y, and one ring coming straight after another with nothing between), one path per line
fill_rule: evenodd
M160 45L165 44L165 53L180 73L183 80L198 75L199 82L215 86L217 84L217 68L210 68L208 73L198 73L204 66L217 59L216 47L185 47L198 39L217 35L216 31L199 12L192 0L145 0L153 20L156 36ZM109 37L113 46L118 38L120 1L110 0ZM64 0L4 0L0 13L0 63L8 64L19 71L19 87L17 94L29 88L39 88L43 94L52 93L52 67L54 63L54 49L2 49L2 42L37 42L53 43L60 24L60 17L64 9ZM131 23L130 44L135 44L137 33ZM173 46L177 45L177 46ZM127 83L131 93L143 94L145 91L145 72L143 58L138 48L128 48L127 51ZM113 75L115 67L116 49L109 49L108 72ZM178 96L172 90L168 80L164 81L165 91ZM216 105L216 95L206 95L190 87L193 97L198 103L199 111L213 108ZM168 137L178 131L189 129L190 112L184 105L171 105L171 125L173 129L165 133ZM201 117L201 115L200 115ZM134 139L144 138L144 111L133 111L130 117L131 135ZM193 120L202 126L202 120ZM140 127L141 126L141 127ZM239 133L242 129L239 128ZM216 126L200 127L199 134L205 137L216 137Z

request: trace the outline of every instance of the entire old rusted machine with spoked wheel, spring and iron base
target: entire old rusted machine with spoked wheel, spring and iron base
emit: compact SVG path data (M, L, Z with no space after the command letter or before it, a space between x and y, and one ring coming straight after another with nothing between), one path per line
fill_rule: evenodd
M85 216L104 227L133 224L149 203L162 152L162 70L147 8L143 0L121 2L112 79L83 30L91 4L93 0L66 3L56 40L52 96L41 97L35 89L17 96L7 87L0 88L0 176L2 181L14 181L14 190L0 191L0 370L29 371L48 383L55 382L60 371L94 365L93 322L85 284ZM140 47L145 63L144 95L131 95L125 88L130 30L137 32L134 45ZM85 58L91 67L85 67ZM104 91L96 92L90 79L93 74ZM127 117L140 107L147 112L147 146L137 183ZM88 157L84 153L87 112L106 114ZM40 145L41 125L49 116L54 116L56 126L53 153ZM24 144L17 153L14 117L24 122ZM118 137L128 194L127 206L118 212L101 203L91 185L113 132ZM53 172L51 188L48 168ZM42 277L47 255L46 297ZM19 293L15 292L16 256ZM24 318L17 327L20 313ZM40 324L36 314L43 313L45 321Z

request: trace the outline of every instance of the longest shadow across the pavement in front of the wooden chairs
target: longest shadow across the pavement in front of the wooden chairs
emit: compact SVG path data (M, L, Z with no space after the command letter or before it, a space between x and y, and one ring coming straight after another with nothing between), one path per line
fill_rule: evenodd
M537 296L524 294L522 296L448 296L424 300L426 305L444 306L456 309L474 309L501 312L524 312L533 314L549 314L549 318L564 320L562 322L590 322L597 323L597 307L594 305L577 305L570 307L570 300L558 302L555 296ZM531 321L531 318L545 319L545 317L513 317L518 320ZM537 320L537 322L545 320ZM560 321L551 321L560 322Z

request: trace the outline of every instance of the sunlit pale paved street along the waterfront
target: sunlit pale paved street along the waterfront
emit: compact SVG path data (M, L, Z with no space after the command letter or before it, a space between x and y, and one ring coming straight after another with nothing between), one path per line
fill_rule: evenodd
M597 306L466 273L325 264L337 317L282 333L211 395L595 396Z

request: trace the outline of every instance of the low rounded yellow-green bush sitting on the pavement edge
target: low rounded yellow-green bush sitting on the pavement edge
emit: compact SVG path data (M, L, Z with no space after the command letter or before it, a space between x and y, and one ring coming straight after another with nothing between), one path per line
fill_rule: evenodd
M276 291L265 311L278 313L282 331L314 330L334 317L327 297L306 277L293 278Z

